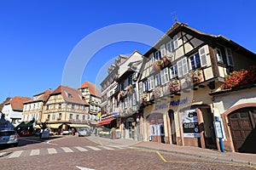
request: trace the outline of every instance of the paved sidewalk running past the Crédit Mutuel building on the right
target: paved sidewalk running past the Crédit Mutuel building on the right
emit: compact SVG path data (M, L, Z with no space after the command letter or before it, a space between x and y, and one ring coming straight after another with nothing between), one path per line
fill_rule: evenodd
M159 144L154 142L135 141L131 139L106 139L106 138L101 138L97 136L90 136L88 137L88 139L90 139L91 141L97 144L129 145L129 146L148 149L148 150L166 151L166 152L171 152L179 155L196 156L196 157L202 157L207 159L229 161L229 162L239 163L243 165L256 166L255 154L246 154L246 153L238 153L238 152L230 152L230 151L221 152L218 150L201 149L193 146L179 146L175 144Z

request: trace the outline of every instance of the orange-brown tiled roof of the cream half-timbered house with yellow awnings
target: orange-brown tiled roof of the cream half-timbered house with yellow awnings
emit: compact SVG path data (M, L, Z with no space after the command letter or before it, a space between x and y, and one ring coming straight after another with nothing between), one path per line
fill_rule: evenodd
M61 94L63 99L67 102L86 105L84 103L84 99L82 99L83 94L79 91L79 89L69 88L67 86L61 85L58 88L56 88L53 93L49 95L54 94Z

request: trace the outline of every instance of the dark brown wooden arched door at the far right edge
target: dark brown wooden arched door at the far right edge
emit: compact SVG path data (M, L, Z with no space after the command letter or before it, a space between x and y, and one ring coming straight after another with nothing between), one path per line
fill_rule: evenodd
M256 109L235 111L228 116L231 136L236 151L256 153Z

